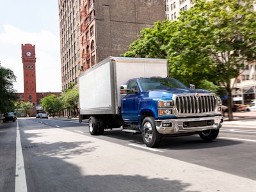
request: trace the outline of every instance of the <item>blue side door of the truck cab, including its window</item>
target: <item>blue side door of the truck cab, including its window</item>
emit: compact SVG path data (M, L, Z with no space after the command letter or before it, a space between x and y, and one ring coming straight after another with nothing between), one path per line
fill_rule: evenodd
M128 89L137 89L136 80L127 84ZM122 98L122 118L125 122L138 122L138 93L127 94Z

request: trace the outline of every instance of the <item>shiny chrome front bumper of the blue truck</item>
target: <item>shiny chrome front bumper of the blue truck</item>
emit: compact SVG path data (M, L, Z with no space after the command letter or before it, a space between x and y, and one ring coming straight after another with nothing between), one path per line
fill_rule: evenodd
M220 129L223 116L165 119L155 120L155 122L156 129L160 134L182 134L209 129Z

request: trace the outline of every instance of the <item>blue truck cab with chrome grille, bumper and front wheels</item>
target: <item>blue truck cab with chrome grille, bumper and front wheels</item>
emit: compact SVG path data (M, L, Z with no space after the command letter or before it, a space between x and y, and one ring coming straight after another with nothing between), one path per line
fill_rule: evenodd
M212 92L190 89L173 78L150 77L129 80L120 93L124 122L138 124L148 147L157 146L163 135L198 133L207 141L218 136L221 100Z

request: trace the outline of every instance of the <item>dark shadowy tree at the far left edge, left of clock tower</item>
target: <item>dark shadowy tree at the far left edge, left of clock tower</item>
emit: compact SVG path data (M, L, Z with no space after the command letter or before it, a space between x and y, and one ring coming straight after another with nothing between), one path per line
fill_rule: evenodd
M0 113L14 110L14 102L18 99L13 89L15 81L13 71L0 65Z

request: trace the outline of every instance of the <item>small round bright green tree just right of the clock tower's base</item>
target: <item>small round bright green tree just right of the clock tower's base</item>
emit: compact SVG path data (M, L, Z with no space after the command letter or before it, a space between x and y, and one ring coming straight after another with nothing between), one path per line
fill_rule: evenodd
M44 108L47 113L57 113L61 110L60 99L56 95L48 95L40 100L42 108Z

